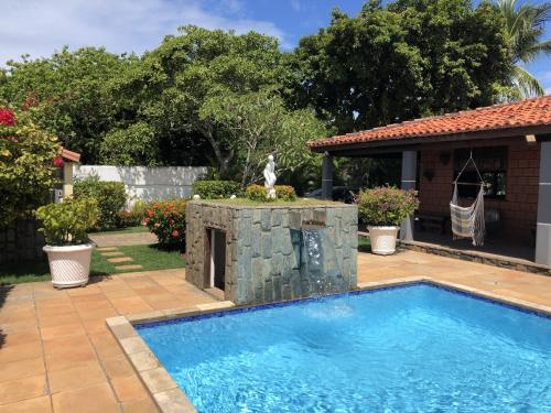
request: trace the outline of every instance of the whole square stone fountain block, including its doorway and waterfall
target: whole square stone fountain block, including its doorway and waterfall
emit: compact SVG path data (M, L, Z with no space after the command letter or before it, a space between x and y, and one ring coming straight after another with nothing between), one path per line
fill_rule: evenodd
M357 207L296 204L191 202L186 280L239 305L355 290Z

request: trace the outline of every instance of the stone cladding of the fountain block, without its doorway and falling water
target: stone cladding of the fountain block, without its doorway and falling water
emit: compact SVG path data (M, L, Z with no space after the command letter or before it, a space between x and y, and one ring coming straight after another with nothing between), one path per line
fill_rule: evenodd
M186 213L186 280L207 289L209 247L207 229L226 232L225 298L259 304L311 296L316 285L300 271L300 231L305 222L323 224L334 241L343 283L356 289L356 206L236 206L192 202ZM332 251L333 254L333 251Z

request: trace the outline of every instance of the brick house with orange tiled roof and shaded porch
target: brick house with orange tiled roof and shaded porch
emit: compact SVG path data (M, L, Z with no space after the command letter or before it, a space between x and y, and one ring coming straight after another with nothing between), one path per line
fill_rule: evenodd
M325 154L326 195L333 156L400 156L401 187L419 191L419 217L425 220L450 215L452 183L472 154L486 183L486 210L499 222L494 239L531 248L536 263L551 265L551 96L388 124L309 146ZM477 176L472 166L462 176L465 204L479 187ZM421 236L413 219L402 225L406 242Z

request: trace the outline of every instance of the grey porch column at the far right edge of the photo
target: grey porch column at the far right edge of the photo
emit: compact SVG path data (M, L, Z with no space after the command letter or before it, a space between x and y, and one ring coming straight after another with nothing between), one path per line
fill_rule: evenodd
M551 142L541 142L536 262L551 265Z

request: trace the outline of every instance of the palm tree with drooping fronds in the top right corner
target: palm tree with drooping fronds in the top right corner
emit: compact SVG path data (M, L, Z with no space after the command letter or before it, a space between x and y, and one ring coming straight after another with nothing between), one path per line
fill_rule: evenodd
M551 3L523 3L517 7L516 0L498 0L497 7L507 28L507 41L515 65L512 83L518 96L527 98L544 95L541 84L522 65L533 62L541 54L551 54L551 40L541 41L545 24L551 19Z

